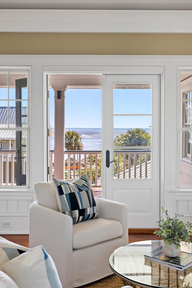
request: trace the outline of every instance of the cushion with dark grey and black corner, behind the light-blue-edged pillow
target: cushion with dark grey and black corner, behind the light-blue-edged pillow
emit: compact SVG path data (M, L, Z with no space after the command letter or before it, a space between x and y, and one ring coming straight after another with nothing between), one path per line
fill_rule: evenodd
M28 250L27 247L0 237L0 266Z

